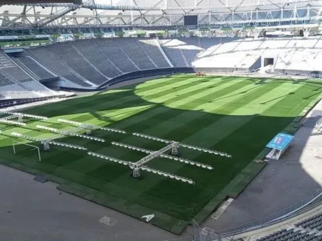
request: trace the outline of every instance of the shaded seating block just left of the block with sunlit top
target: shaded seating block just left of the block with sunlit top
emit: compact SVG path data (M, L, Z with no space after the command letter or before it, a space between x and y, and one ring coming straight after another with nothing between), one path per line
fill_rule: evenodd
M138 45L136 40L132 40L131 38L120 38L117 42L140 70L156 68L156 65L151 62L151 58L149 58L143 48Z

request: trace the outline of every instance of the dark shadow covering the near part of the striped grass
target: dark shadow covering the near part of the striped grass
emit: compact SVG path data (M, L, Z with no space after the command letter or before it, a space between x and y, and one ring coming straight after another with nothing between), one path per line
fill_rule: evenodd
M266 82L264 84L269 85ZM132 177L129 177L129 168L126 166L99 160L96 157L87 155L86 151L52 147L51 153L42 152L42 162L32 161L32 159L36 160L36 153L30 151L29 147L19 147L16 155L13 155L12 147L2 147L0 151L9 162L61 177L66 181L95 190L95 192L99 191L104 198L110 196L109 201L104 202L105 205L131 214L136 218L147 214L147 211L158 212L161 216L164 215L164 218L155 221L156 223L154 224L171 230L175 225L171 218L188 222L203 211L203 208L216 195L221 194L223 199L225 196L238 195L245 188L245 186L239 186L240 183L236 183L235 189L231 188L226 190L225 193L223 193L223 190L262 151L265 144L275 134L287 127L297 117L297 114L300 114L301 110L306 107L300 106L297 107L297 110L294 110L293 106L290 105L289 110L286 110L286 112L292 110L293 112L290 113L294 115L288 113L288 117L268 116L268 114L274 113L274 110L278 113L278 110L274 107L275 105L269 107L264 112L264 115L234 116L230 114L238 107L250 103L251 99L249 99L247 100L248 102L244 100L243 104L238 105L238 107L236 107L236 103L225 104L223 106L226 110L225 114L210 114L197 110L173 109L162 103L151 103L138 97L134 93L135 87L132 86L132 91L69 99L68 102L62 101L51 105L43 105L29 109L26 112L48 117L75 114L75 119L71 119L75 121L77 121L77 114L79 114L82 120L78 119L78 121L84 123L87 120L90 121L92 116L112 122L98 112L150 106L147 110L134 113L120 121L112 122L113 124L108 126L125 129L129 134L123 136L122 134L100 131L99 137L105 138L109 142L99 143L80 138L62 138L56 141L79 144L87 147L88 151L96 151L122 160L133 161L139 160L142 155L135 151L114 147L110 144L110 141L124 142L151 150L158 150L164 147L160 142L147 141L131 135L132 132L141 132L168 140L182 141L186 144L224 151L231 154L232 158L227 159L217 155L210 155L209 153L180 148L179 151L183 157L209 164L214 166L214 169L205 170L163 159L147 163L147 166L152 168L193 179L195 185L192 186L173 179L145 173L144 171L142 173L145 179L135 181ZM312 87L317 88L316 84ZM126 86L126 88L128 89L129 86ZM284 98L277 101L276 105L289 104L290 100L288 98L290 97L298 96L298 98L301 98L300 93L295 93L286 94ZM314 97L317 97L317 95L312 95L310 99L314 99ZM240 98L243 99L243 97ZM203 103L195 103L194 107ZM268 114L265 115L265 113ZM219 123L221 124L219 125ZM29 131L32 132L34 129ZM39 146L39 143L32 144ZM249 176L256 175L257 172L258 170L254 173L249 173ZM247 180L250 181L251 179ZM313 179L312 182L314 182ZM207 207L206 216L214 210L220 201L222 199L213 203L211 207ZM132 205L133 207L131 207ZM137 209L135 212L132 210L134 207ZM203 216L203 218L206 218L206 216ZM169 217L171 217L171 221L167 220Z

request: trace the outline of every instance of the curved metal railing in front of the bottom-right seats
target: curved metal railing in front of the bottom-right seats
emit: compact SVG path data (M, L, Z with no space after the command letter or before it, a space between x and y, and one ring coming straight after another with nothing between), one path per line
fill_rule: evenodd
M260 229L262 227L267 227L269 225L273 225L274 223L279 223L282 220L286 220L292 216L296 216L297 214L306 212L308 209L315 207L316 205L310 205L312 202L317 200L320 196L322 196L322 188L312 192L305 199L291 205L290 207L285 208L284 210L280 210L275 212L269 216L265 216L264 218L258 218L249 223L244 223L243 225L238 225L235 227L230 227L228 229L221 229L217 231L221 234L221 236L235 236L238 233L244 233L246 231L252 231L255 229ZM310 207L306 208L308 205ZM317 205L321 205L321 202L318 202Z

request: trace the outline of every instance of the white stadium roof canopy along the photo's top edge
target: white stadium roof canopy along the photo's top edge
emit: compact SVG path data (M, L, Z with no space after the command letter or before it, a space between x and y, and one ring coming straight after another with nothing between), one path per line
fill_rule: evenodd
M83 3L83 6L71 4L1 5L0 25L12 25L13 23L34 25L37 22L40 26L168 25L169 22L177 23L186 14L199 14L199 20L207 18L206 16L210 14L225 14L221 17L225 19L234 12L238 20L248 19L256 11L262 14L262 18L269 18L269 15L277 14L274 11L284 9L289 17L297 17L293 12L295 8L306 10L310 6L312 9L309 12L312 11L313 15L317 15L321 14L319 8L322 7L322 1L314 0L84 0ZM111 7L116 10L108 10ZM54 21L53 16L55 16ZM210 22L218 20L219 16L213 16Z

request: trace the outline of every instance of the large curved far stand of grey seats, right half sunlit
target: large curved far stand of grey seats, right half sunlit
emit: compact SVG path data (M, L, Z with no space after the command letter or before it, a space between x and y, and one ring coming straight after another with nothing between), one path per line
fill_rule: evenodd
M94 38L63 42L27 50L17 60L42 79L54 74L71 88L96 88L115 78L158 68L186 71L275 71L275 73L319 73L322 71L322 40L303 38ZM30 56L28 56L30 55ZM273 64L262 67L262 58L273 56ZM27 58L34 61L28 62ZM3 67L18 81L31 77L6 56ZM48 68L50 71L46 71ZM190 70L188 70L190 68ZM28 72L28 71L27 71ZM29 73L29 75L32 75ZM128 79L128 77L127 77Z

